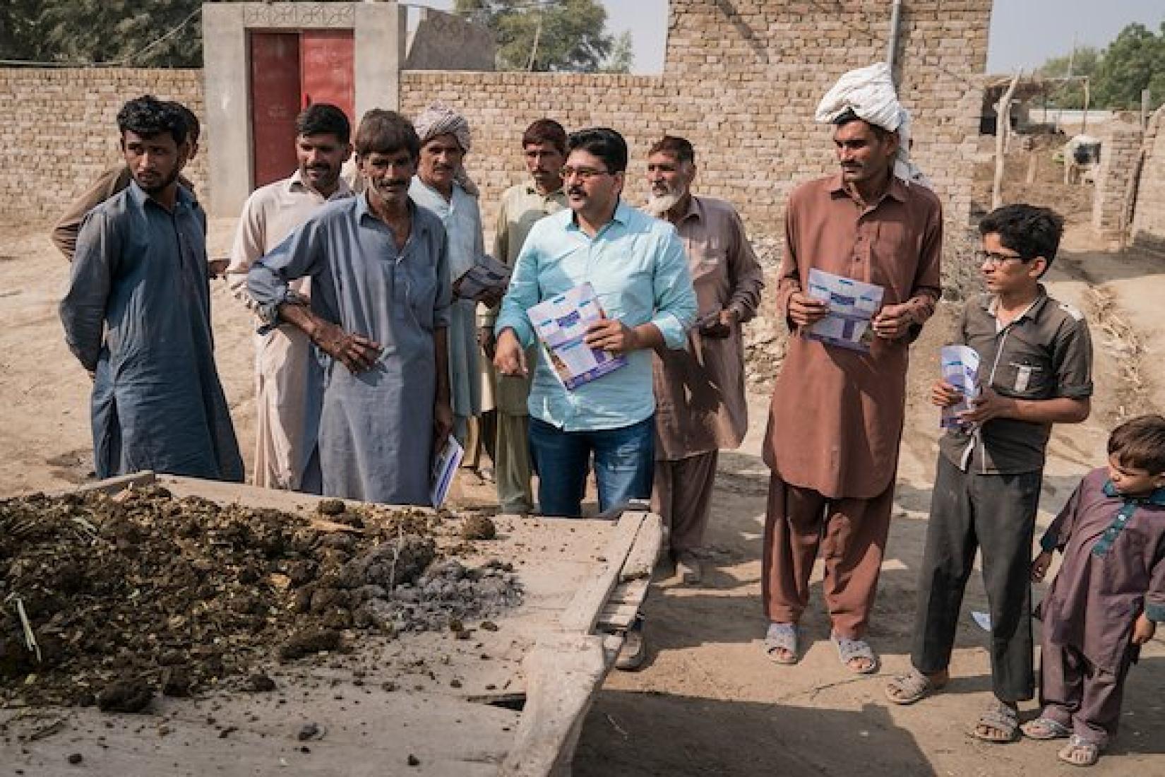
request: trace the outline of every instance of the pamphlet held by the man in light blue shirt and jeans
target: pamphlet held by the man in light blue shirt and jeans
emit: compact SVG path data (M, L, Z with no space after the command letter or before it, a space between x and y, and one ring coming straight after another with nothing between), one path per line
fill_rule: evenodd
M602 306L589 283L541 302L527 315L555 374L567 390L573 391L627 363L624 356L592 348L584 340L587 327L603 318Z

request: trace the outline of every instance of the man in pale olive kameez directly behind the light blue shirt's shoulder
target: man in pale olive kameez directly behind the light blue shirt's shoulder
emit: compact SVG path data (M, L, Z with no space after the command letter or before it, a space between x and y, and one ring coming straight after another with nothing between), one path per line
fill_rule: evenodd
M530 181L510 186L502 195L494 233L494 256L510 268L525 243L525 236L539 219L566 207L563 191L563 163L566 161L566 130L552 119L538 119L522 135L522 154ZM494 324L497 308L478 315L479 340L490 360L494 356ZM527 353L530 356L534 352ZM489 362L493 398L496 403L496 444L494 471L497 501L502 513L524 515L534 511L530 480L529 411L530 376L496 375Z

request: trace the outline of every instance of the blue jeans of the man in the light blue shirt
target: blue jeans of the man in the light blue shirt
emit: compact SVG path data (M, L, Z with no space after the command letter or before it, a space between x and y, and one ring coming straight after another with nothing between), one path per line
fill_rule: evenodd
M582 514L592 453L600 510L651 497L654 416L620 429L578 432L531 417L530 460L538 473L538 509L543 515Z

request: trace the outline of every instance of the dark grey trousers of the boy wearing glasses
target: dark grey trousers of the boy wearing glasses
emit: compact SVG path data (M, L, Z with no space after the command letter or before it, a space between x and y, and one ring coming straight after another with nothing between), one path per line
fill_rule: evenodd
M1002 701L1032 698L1031 543L1042 480L1042 472L965 473L939 455L910 656L919 671L939 672L951 663L962 594L980 549L993 690Z

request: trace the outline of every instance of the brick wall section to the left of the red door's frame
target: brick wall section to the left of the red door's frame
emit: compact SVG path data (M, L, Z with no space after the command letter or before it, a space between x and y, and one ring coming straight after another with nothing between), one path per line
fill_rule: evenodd
M0 222L52 221L118 163L118 111L144 93L178 100L202 115L202 70L0 69L0 148L13 161L0 177ZM202 146L185 175L205 189L205 137Z

